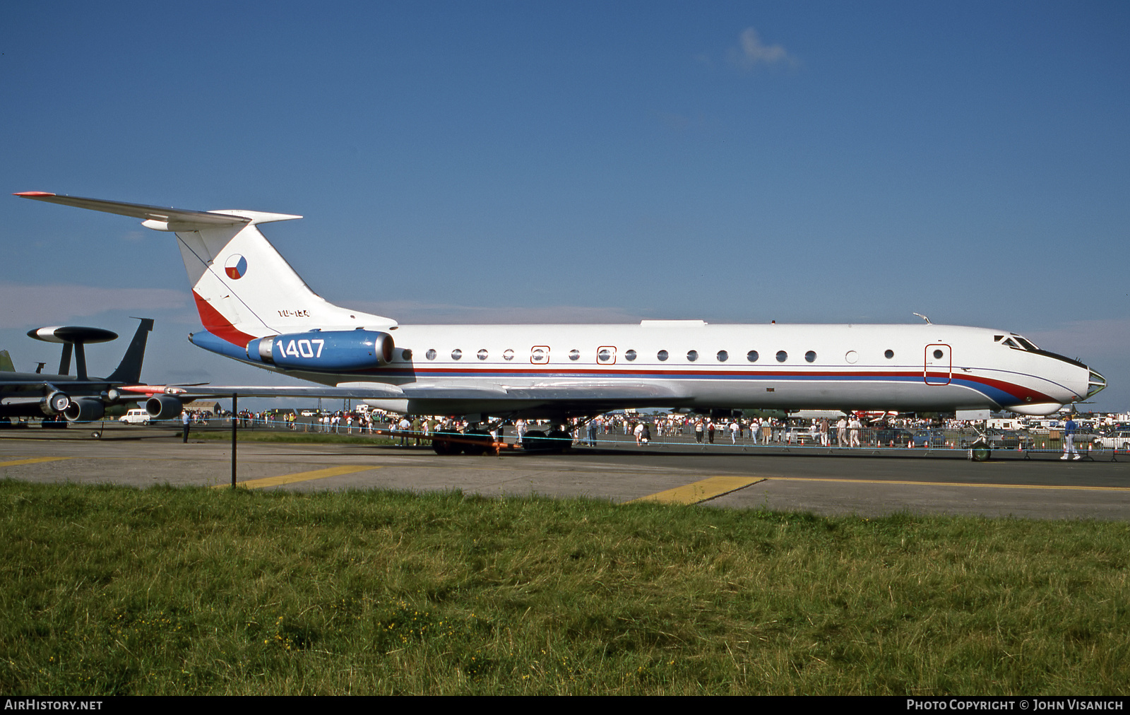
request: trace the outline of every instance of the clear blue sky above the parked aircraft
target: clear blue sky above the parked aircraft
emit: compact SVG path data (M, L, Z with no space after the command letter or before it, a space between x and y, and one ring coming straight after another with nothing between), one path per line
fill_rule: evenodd
M14 5L0 178L302 214L264 233L306 282L405 324L915 311L1130 410L1128 36L1124 2ZM272 379L185 342L168 235L2 206L17 368L145 315L149 380Z

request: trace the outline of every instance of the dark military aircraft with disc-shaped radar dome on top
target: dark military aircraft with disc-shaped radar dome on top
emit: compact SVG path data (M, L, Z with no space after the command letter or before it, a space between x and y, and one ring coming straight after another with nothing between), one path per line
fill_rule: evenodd
M102 419L106 407L111 405L137 402L139 397L123 390L123 387L137 385L140 380L146 341L153 330L150 318L139 320L141 324L133 334L125 355L107 378L92 378L87 374L84 346L112 341L118 337L116 333L80 326L55 326L28 331L28 337L62 344L59 372L0 372L0 421L62 414L70 422L90 422ZM72 352L77 374L69 374Z

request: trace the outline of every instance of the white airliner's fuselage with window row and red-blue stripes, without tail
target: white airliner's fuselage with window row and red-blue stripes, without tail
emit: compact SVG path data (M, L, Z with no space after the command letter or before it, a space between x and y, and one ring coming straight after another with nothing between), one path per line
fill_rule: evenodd
M662 384L671 406L693 407L1035 413L1080 399L1089 376L1074 361L1002 345L1005 330L927 324L435 325L392 335L385 367L292 374L325 385ZM408 411L393 402L374 404Z

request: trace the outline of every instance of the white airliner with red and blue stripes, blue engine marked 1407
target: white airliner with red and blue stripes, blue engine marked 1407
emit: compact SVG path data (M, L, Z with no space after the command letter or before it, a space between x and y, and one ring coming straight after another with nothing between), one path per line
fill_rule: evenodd
M349 397L409 414L592 416L626 407L1010 410L1046 415L1106 386L1087 365L1003 329L932 325L421 325L314 293L259 225L301 218L17 193L141 218L176 235L205 350L318 387L195 395ZM147 405L180 412L168 388ZM156 400L156 402L154 402Z

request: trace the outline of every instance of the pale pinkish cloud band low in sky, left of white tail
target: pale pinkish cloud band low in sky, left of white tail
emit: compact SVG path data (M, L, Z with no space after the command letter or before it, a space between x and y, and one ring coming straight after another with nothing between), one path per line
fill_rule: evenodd
M186 293L169 288L0 283L0 328L59 325L107 310L148 316L154 310L184 308L189 302Z

